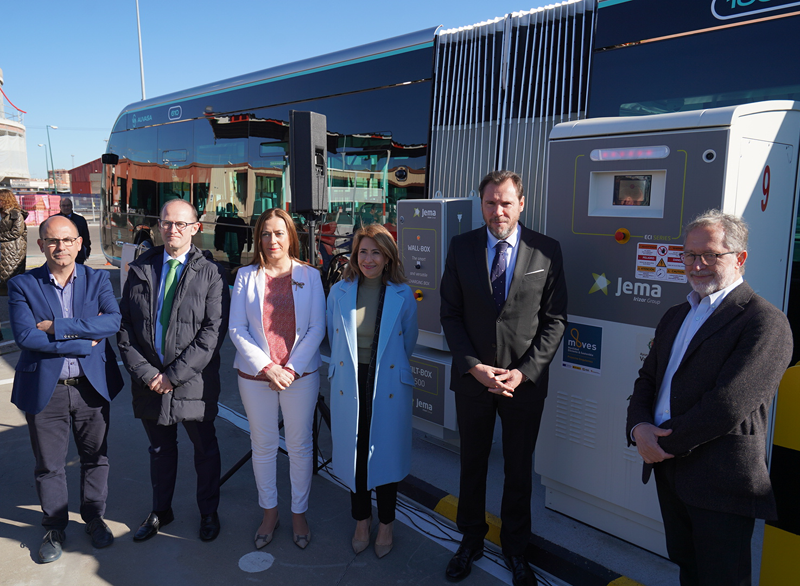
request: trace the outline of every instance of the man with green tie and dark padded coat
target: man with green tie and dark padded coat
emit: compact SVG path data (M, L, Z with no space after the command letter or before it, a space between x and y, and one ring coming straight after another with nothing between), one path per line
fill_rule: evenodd
M212 541L220 530L220 454L214 419L230 294L221 267L210 253L192 244L199 223L189 202L167 202L158 225L164 245L129 265L117 337L131 375L134 415L150 440L153 507L133 540L150 539L174 519L182 422L194 444L200 539Z

